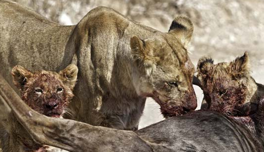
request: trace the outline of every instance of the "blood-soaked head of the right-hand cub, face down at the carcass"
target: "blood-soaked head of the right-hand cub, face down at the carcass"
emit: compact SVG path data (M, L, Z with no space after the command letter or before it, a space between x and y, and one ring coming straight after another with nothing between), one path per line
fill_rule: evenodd
M256 88L250 76L247 52L230 63L216 65L209 57L199 60L197 77L201 81L208 109L222 114L237 115L250 101Z

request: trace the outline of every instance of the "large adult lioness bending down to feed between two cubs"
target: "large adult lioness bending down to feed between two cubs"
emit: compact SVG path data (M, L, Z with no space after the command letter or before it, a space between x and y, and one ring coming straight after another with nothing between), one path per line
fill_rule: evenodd
M178 115L197 106L194 66L186 49L193 25L186 17L176 17L169 32L161 33L111 8L97 7L77 25L60 26L0 0L0 21L0 73L9 84L8 73L16 64L32 71L77 64L79 83L70 118L137 129L147 97L169 103L166 109L177 109Z

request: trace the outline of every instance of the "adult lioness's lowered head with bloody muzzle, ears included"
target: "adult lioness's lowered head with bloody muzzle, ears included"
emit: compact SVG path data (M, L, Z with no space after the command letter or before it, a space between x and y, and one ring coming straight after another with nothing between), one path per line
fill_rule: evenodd
M137 66L132 71L136 91L152 97L165 117L184 114L197 106L192 87L195 69L186 49L192 33L191 21L180 16L174 19L168 33L130 39Z

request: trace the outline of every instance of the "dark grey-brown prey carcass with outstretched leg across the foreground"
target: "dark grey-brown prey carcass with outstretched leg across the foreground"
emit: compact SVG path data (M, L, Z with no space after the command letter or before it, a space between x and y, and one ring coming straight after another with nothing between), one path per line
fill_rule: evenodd
M263 140L211 111L171 117L135 132L45 117L25 105L1 77L0 102L7 102L32 137L45 145L70 152L264 152ZM264 102L260 104L256 122L264 139Z

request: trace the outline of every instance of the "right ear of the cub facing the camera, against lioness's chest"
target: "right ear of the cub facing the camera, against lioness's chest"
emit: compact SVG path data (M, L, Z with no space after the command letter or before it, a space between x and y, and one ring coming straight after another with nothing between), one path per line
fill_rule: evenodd
M70 64L65 69L59 72L60 79L62 82L70 87L71 90L74 89L75 83L77 81L78 68L74 64Z

